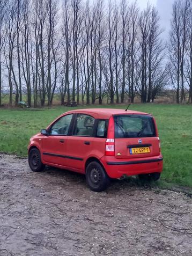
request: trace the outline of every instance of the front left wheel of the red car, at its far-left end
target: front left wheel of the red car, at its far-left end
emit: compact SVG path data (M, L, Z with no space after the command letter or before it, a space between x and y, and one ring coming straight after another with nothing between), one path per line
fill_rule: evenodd
M33 172L41 172L45 165L41 162L41 154L38 149L32 149L28 154L28 164Z

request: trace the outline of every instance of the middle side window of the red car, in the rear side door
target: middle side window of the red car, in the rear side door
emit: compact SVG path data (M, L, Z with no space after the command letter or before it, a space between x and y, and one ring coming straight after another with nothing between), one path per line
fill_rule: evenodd
M90 115L78 114L75 121L73 135L92 136L94 127L94 118Z

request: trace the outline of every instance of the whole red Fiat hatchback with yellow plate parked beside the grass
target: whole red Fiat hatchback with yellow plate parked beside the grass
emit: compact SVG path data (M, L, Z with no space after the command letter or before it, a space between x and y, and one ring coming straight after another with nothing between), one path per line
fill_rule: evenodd
M151 114L122 109L69 111L28 146L31 170L45 165L84 173L93 191L104 191L111 178L139 175L158 180L163 156L156 122Z

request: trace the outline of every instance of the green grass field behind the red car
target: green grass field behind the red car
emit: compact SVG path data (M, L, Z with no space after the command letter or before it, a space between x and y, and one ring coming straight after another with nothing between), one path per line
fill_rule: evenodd
M0 151L27 156L29 138L69 109L0 109ZM156 118L164 156L162 179L192 187L192 106L138 104L130 109L151 113Z

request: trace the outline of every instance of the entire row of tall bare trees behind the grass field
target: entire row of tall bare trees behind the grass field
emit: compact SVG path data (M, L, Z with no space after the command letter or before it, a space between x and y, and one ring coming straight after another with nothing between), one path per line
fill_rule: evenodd
M190 0L176 1L168 47L151 5L103 0L0 0L0 105L151 102L172 83L192 101ZM167 48L169 50L167 51ZM25 96L25 98L24 98Z

